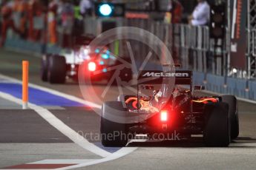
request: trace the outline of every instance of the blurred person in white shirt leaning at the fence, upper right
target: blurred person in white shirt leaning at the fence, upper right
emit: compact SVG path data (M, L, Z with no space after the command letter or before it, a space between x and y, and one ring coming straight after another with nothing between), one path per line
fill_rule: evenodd
M188 17L189 24L193 26L206 25L210 19L210 6L206 0L197 0L198 4L194 12Z

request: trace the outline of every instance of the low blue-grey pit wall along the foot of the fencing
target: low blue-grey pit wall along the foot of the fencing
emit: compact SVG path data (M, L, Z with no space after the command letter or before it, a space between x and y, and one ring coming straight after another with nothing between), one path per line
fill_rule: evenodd
M5 48L17 52L29 52L40 55L43 44L24 41L21 39L7 39ZM58 54L62 48L56 46L47 46L47 53ZM148 64L145 69L160 69L160 66ZM235 95L239 98L256 101L256 81L225 78L219 75L212 75L203 72L194 72L194 84L206 86L206 90L220 94Z

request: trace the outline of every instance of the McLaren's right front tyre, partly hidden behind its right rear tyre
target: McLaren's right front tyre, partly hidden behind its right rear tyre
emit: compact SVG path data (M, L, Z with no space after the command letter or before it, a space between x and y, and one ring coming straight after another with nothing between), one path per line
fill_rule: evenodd
M235 139L239 135L239 116L237 109L237 98L234 95L223 95L222 101L229 104L229 120L231 139Z

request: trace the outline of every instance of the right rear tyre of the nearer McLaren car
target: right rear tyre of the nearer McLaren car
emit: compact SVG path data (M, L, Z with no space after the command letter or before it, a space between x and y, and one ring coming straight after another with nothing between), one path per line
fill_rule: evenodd
M206 146L225 147L230 143L229 105L215 103L206 105L206 126L203 138Z

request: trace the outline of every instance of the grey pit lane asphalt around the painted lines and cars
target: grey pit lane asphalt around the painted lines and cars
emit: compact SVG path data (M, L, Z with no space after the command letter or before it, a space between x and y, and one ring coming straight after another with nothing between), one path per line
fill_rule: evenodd
M82 98L78 84L52 85L40 81L40 59L32 55L0 50L0 73L21 78L22 60L30 61L30 82ZM100 91L104 86L95 86ZM105 98L116 98L115 87ZM81 169L255 169L256 105L239 101L240 137L229 148L202 147L200 140L188 142L131 143L135 152L106 163ZM99 116L90 108L50 109L70 128L99 132ZM97 159L72 143L33 110L0 110L0 168L44 159ZM99 141L91 141L97 143Z

